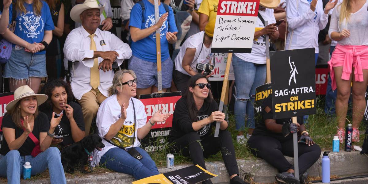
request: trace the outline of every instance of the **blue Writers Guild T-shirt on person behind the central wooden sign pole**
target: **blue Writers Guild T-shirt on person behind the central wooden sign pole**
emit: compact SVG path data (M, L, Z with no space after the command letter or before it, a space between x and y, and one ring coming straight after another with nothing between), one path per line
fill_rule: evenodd
M145 10L144 18L142 21L142 7L140 4L135 4L130 12L129 26L134 26L139 29L146 29L155 25L155 5L150 3L148 0L143 0ZM166 13L165 7L161 3L159 6L160 17ZM170 27L169 27L170 25ZM161 38L161 60L164 61L170 57L169 55L169 42L166 40L166 33L177 32L173 9L169 7L169 16L167 20L163 22L160 30ZM156 31L151 33L148 37L138 40L137 42L131 43L131 49L133 56L139 59L150 61L153 63L157 62L156 57Z

